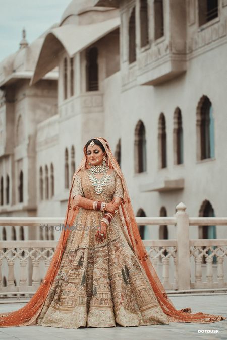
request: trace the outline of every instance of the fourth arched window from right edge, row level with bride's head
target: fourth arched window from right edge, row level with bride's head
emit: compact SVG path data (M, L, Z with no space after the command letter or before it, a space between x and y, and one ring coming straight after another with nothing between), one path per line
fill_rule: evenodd
M139 120L135 128L134 140L135 172L144 172L147 169L146 160L146 132L142 120Z

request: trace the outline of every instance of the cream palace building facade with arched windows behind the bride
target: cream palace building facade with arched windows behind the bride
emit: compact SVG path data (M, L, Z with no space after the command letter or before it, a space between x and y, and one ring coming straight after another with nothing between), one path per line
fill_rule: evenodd
M172 216L182 201L190 216L226 216L225 0L72 1L39 43L30 77L1 86L1 215L64 216L83 146L102 136L135 215ZM140 233L176 237L174 226Z

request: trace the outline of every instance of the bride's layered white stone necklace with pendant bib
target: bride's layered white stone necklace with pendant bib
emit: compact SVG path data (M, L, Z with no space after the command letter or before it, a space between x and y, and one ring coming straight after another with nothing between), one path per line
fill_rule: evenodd
M103 191L103 187L107 184L109 181L111 175L107 174L107 170L109 168L105 164L101 165L92 165L88 171L89 175L88 178L90 179L92 185L94 186L95 192L100 195ZM97 178L95 174L102 173L103 176L101 178Z

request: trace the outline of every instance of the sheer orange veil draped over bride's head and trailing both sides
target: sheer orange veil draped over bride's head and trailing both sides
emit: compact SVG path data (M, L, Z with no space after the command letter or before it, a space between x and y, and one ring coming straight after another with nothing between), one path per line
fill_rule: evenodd
M107 156L107 166L110 169L115 169L117 174L121 177L122 185L124 188L124 199L121 202L121 206L119 207L119 214L121 217L121 221L123 227L126 232L126 236L130 242L130 247L132 251L137 256L140 264L143 266L145 273L149 279L149 282L152 286L152 289L157 297L157 300L164 311L165 314L168 315L169 322L192 322L192 323L210 323L223 320L221 315L212 315L212 314L205 314L202 312L198 313L191 313L190 308L185 308L181 310L177 310L171 300L169 300L166 291L159 280L158 275L151 263L149 255L144 247L143 241L141 240L138 226L136 223L134 211L132 208L131 200L129 197L129 192L127 188L127 184L124 178L124 175L121 171L121 168L113 156L109 144L106 139L98 137L94 138L94 142L99 140L103 147L105 148L106 156ZM79 207L76 209L72 209L75 206L75 201L72 197L72 188L74 185L75 176L81 169L88 169L88 159L86 153L86 145L84 146L84 157L81 160L80 165L78 166L77 170L75 171L72 179L72 184L69 192L69 199L68 199L68 206L65 216L64 225L65 226L72 226L74 224L75 218L78 214ZM30 301L21 309L10 312L0 314L0 326L1 327L12 327L12 326L25 326L35 324L35 320L45 302L45 299L48 295L48 292L51 288L52 282L58 273L59 265L61 262L62 254L64 252L64 248L66 245L66 241L69 235L70 229L63 228L58 244L56 246L55 252L53 254L53 258L50 262L49 268L47 273L37 289L34 296L30 299Z

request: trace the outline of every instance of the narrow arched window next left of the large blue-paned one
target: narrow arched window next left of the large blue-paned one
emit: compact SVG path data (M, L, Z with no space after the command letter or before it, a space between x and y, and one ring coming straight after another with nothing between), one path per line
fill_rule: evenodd
M174 164L183 164L183 127L179 107L174 112Z

